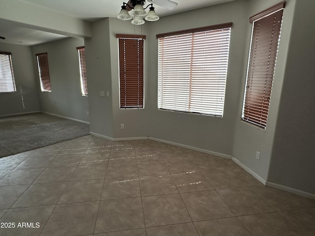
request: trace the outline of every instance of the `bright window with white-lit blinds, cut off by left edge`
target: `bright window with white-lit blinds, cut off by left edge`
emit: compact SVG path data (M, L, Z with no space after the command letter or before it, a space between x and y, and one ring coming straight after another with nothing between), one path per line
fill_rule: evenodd
M11 53L0 52L0 92L15 92Z

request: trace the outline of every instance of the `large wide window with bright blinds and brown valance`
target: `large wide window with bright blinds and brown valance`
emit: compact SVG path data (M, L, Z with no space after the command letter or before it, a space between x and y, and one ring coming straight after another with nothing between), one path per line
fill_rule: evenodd
M158 109L223 116L232 23L158 34Z

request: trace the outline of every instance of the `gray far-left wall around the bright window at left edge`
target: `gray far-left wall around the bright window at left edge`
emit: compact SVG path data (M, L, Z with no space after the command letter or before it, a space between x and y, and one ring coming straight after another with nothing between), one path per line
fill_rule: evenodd
M11 58L16 85L16 92L0 93L0 116L39 111L31 48L0 43L0 51L12 53ZM21 95L23 95L23 101Z

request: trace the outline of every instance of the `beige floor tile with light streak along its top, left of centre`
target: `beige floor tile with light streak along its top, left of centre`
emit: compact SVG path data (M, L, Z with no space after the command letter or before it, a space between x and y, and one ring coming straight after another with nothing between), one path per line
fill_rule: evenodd
M105 179L101 200L140 197L138 177Z

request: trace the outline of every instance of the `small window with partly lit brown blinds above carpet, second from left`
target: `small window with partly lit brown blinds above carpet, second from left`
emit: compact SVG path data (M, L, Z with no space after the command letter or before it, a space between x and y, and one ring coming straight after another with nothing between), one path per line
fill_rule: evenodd
M51 92L47 53L36 54L41 91Z

